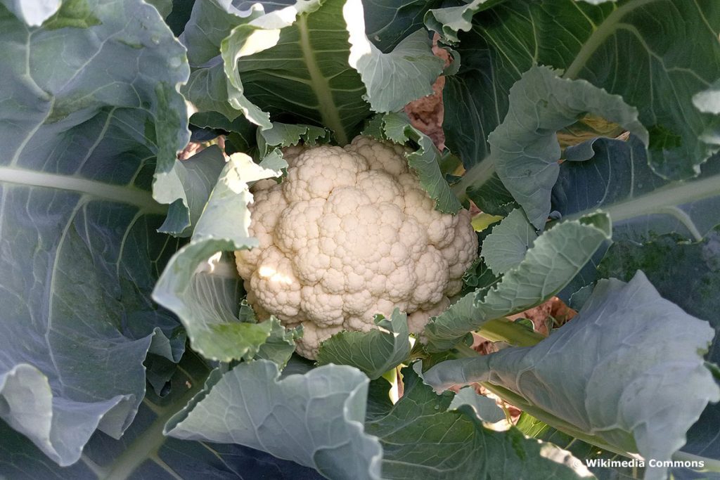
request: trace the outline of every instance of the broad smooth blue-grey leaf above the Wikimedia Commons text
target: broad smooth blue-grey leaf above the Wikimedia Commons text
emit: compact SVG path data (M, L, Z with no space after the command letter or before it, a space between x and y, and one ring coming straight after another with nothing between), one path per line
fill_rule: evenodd
M720 400L702 358L713 334L707 322L662 299L638 272L629 284L600 281L577 317L534 347L446 361L424 379L436 389L487 382L565 433L663 461L685 443L706 404ZM646 478L664 474L649 466Z

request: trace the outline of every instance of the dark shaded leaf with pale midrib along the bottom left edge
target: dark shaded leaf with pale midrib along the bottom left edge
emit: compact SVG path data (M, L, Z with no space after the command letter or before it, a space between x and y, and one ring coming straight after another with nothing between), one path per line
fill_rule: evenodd
M148 393L120 440L96 433L81 461L68 467L48 462L27 439L0 422L0 476L38 479L261 479L318 480L315 470L233 444L178 440L163 435L166 422L202 390L209 370L189 352L176 369L169 394Z

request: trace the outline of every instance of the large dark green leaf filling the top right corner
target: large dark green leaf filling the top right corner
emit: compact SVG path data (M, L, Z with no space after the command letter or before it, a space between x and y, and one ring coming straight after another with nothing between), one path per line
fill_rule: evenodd
M693 106L693 96L720 77L719 30L714 0L504 1L458 35L462 65L444 91L446 141L466 166L479 163L487 135L508 112L510 86L533 65L548 65L636 107L654 171L695 176L719 143L705 135L711 115Z

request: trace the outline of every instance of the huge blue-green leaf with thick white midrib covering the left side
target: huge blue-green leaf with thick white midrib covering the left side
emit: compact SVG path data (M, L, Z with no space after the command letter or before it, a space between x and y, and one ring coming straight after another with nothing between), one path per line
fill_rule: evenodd
M0 417L68 465L96 429L130 425L148 351L184 348L149 299L177 248L150 184L155 171L156 198L186 213L189 71L139 0L66 1L42 27L0 6L0 42Z

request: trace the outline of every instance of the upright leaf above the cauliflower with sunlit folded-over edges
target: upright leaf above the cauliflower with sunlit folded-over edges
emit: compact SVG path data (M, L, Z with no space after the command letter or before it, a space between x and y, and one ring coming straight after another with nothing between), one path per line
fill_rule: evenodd
M194 68L186 94L201 111L263 128L271 117L320 124L344 145L371 107L389 112L431 94L442 69L419 32L382 53L366 37L359 0L196 5L184 32Z

